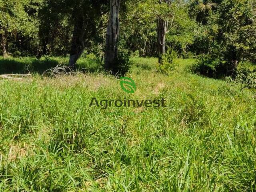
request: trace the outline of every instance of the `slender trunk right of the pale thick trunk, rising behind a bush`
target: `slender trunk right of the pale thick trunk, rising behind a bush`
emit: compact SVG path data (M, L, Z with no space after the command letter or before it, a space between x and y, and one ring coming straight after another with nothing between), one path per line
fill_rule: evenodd
M157 52L158 52L158 63L162 64L162 57L165 54L165 36L167 32L167 21L161 18L157 20Z

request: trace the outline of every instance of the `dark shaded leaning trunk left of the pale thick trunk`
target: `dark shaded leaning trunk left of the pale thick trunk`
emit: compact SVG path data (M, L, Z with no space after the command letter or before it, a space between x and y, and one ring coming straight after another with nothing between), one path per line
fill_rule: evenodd
M84 52L84 48L86 46L84 42L84 34L85 34L85 21L82 16L76 19L76 23L74 26L74 32L71 42L71 50L70 50L70 60L69 66L74 67L76 61L80 58L82 53Z

